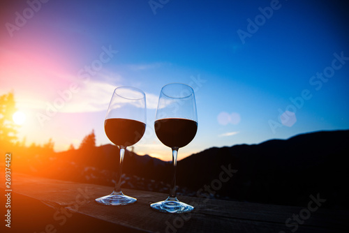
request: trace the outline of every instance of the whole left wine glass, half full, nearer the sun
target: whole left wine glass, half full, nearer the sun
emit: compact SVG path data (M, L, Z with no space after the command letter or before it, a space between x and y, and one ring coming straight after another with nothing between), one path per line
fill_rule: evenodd
M112 100L104 121L105 134L120 149L120 166L117 181L110 195L99 197L96 202L105 205L126 205L137 199L121 192L121 169L126 146L132 146L144 135L146 126L145 94L134 87L118 87L114 90Z

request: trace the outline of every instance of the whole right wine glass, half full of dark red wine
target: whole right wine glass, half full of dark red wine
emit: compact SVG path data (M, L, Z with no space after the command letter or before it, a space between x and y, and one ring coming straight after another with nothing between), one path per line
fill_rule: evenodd
M193 206L179 202L176 197L176 167L178 149L186 146L198 130L198 117L194 91L186 84L167 84L161 89L155 116L155 132L158 139L172 149L173 179L170 195L151 208L168 213L186 213Z

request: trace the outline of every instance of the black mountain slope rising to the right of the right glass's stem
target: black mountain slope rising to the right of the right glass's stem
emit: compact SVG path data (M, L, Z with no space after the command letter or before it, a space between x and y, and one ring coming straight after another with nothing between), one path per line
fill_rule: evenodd
M177 183L200 190L216 185L221 166L237 172L214 190L236 200L304 205L319 193L327 206L348 208L349 130L320 131L260 144L211 148L178 163Z

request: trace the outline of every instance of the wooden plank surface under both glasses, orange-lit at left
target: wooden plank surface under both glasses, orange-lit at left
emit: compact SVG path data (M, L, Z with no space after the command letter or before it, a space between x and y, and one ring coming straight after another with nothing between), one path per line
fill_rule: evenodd
M0 186L5 190L4 182ZM11 228L6 227L5 230L37 233L348 232L349 211L322 209L321 206L309 211L307 206L179 196L180 201L195 205L194 211L161 213L151 209L149 204L165 200L167 194L130 189L123 189L123 192L138 199L134 204L104 206L94 201L97 197L110 194L112 189L110 186L45 179L14 172ZM315 209L316 205L313 203L311 207ZM290 220L289 225L285 224L288 218L297 216L299 223Z

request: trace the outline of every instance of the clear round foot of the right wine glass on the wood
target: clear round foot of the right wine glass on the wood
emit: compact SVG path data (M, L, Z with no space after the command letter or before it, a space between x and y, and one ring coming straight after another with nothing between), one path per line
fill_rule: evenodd
M162 202L156 202L150 205L151 208L157 211L166 213L186 213L194 209L193 206L179 202L177 197L168 197L168 199Z

